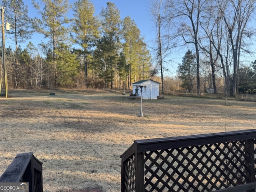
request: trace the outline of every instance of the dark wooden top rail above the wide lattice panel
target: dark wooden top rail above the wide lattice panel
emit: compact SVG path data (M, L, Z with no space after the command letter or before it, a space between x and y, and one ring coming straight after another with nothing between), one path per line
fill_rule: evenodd
M254 138L256 138L256 129L240 130L240 131L232 131L232 132L220 132L220 133L212 133L212 134L201 134L201 135L192 135L192 136L178 136L178 137L169 137L169 138L135 140L134 143L137 145L137 152L140 153L140 152L164 150L164 149L170 149L170 148L180 148L180 147L187 147L187 146L199 146L199 145L206 145L206 144L231 142L235 140L249 140Z

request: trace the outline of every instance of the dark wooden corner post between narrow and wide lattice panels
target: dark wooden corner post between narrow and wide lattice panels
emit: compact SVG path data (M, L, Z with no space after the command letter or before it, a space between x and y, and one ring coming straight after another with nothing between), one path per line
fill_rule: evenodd
M136 192L144 192L144 152L138 152L137 144L135 143L135 189Z

